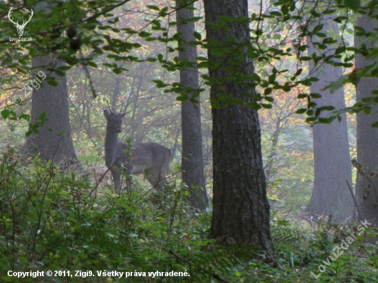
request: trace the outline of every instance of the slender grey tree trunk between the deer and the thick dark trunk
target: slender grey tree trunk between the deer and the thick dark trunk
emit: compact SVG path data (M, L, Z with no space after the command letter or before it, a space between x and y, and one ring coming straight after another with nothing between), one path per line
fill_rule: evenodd
M194 38L194 22L186 22L194 17L193 10L185 7L187 0L177 0L177 32L181 33L179 41L179 59L182 61L197 62L197 47L188 45ZM193 7L193 3L188 5ZM198 69L195 66L184 67L180 70L180 82L184 88L198 89ZM192 91L188 91L191 98ZM181 128L182 128L182 179L188 185L190 196L188 201L199 210L208 207L208 196L205 190L205 175L203 174L203 152L201 131L200 104L190 100L181 102Z

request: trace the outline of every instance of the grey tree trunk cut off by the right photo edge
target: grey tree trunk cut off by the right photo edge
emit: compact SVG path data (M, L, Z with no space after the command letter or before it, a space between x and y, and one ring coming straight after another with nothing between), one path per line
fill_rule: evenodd
M378 21L362 15L357 19L357 25L364 27L366 32L376 33L375 27ZM366 37L355 36L355 43L371 46ZM373 60L366 60L362 54L355 54L355 65L357 69L373 64ZM377 63L377 61L375 61ZM357 84L357 102L363 98L372 96L371 91L378 89L378 78L362 78ZM371 106L371 113L366 115L363 111L357 113L357 162L361 170L357 173L357 200L362 218L378 225L378 179L370 177L370 174L378 172L378 128L372 128L371 124L378 120L378 106Z

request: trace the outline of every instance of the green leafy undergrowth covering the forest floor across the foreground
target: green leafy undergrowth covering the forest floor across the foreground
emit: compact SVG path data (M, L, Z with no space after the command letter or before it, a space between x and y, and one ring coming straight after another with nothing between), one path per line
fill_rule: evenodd
M95 194L87 175L38 157L30 163L20 164L12 150L0 157L1 282L314 282L320 264L318 282L377 280L378 246L364 243L368 230L325 264L355 228L314 228L272 214L276 254L268 256L209 240L211 213L192 211L175 183L159 192L117 196L98 187ZM16 278L18 271L53 274Z

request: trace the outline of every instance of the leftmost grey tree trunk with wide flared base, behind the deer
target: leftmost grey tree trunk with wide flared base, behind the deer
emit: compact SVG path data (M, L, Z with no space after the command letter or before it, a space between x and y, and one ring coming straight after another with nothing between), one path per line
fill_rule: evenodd
M43 17L59 19L55 14L54 1L41 1L32 6L34 12L43 11ZM54 16L52 16L54 15ZM49 21L47 29L54 22ZM40 18L36 18L38 25ZM39 31L41 32L41 30ZM56 27L52 30L43 29L47 42L38 42L32 45L32 75L33 80L27 87L32 91L32 110L29 132L23 152L40 154L45 160L52 160L59 166L78 163L74 144L71 137L69 122L69 104L65 63L54 52L60 47L57 43L62 34ZM47 44L46 44L47 43ZM45 45L46 44L46 45ZM30 56L30 55L29 55ZM32 89L30 88L32 87Z

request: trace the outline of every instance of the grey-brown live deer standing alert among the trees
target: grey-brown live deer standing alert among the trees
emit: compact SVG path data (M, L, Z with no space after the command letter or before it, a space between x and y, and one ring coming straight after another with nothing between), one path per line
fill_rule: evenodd
M122 131L122 118L126 113L116 113L104 110L107 118L107 133L105 137L105 164L111 171L115 193L121 192L121 174L126 172L126 190L131 192L133 174L144 174L153 188L162 188L168 183L167 176L172 151L155 142L133 142L131 147L118 140Z

